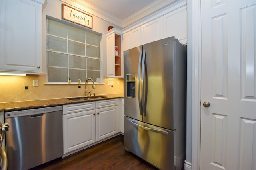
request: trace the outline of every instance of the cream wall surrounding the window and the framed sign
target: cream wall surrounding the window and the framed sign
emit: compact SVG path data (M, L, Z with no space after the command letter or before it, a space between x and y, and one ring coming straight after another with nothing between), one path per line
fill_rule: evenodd
M62 3L68 4L70 6L75 6L75 8L78 8L78 10L82 10L87 14L90 14L89 12L86 11L86 9L79 5L79 4L74 4L74 2L69 1L69 0L47 0L44 5L43 5L43 16L42 16L42 72L46 73L47 68L46 68L46 16L51 16L54 18L57 18L59 20L62 20ZM102 59L102 73L103 76L107 76L107 62L106 62L106 31L108 31L108 26L112 25L113 27L116 27L117 29L121 29L120 27L113 25L112 23L102 20L93 14L90 14L93 16L92 18L92 30L96 31L100 34L102 34L102 39L101 39L101 51L100 51L100 57ZM64 20L66 21L66 20ZM67 21L68 22L68 21ZM75 24L77 25L77 24ZM78 25L80 26L80 25ZM82 27L82 26L81 26ZM88 29L88 28L86 28ZM91 30L91 29L88 29Z

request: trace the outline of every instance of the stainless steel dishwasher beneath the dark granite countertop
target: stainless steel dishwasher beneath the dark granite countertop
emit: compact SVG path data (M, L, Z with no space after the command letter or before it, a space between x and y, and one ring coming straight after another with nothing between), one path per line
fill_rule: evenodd
M8 170L25 170L63 156L62 106L5 112Z

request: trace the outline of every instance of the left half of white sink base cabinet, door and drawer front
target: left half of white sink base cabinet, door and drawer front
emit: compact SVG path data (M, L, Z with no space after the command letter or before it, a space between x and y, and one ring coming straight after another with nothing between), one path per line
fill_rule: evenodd
M63 106L63 153L95 142L95 102Z

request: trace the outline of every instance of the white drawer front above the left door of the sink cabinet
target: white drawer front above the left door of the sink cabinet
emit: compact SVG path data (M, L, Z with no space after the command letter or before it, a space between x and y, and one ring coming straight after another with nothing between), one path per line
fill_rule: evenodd
M68 104L63 106L63 114L95 109L95 102Z

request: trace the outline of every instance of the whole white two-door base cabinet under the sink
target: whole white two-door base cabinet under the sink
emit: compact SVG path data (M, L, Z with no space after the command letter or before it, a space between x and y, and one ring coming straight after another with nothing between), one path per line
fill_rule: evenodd
M64 154L118 133L118 99L63 106Z

